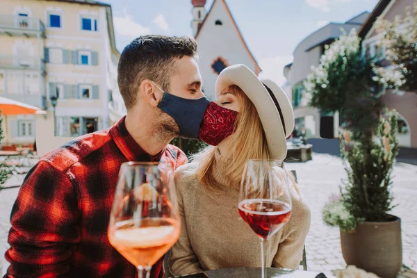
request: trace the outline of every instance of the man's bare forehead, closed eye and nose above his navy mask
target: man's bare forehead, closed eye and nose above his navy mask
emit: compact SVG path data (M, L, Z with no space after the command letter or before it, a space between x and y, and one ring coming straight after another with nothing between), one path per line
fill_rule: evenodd
M184 99L199 99L202 92L202 75L195 58L184 56L174 64L169 93Z

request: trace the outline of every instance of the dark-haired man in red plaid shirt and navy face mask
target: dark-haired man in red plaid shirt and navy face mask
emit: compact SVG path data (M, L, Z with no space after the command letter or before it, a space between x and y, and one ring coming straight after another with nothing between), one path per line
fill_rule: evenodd
M126 117L53 150L28 172L11 213L5 277L136 276L107 238L117 174L126 161L186 163L168 145L184 129L173 118L177 108L161 99L205 99L196 55L195 40L186 37L148 35L124 49L117 82ZM152 277L163 276L161 265Z

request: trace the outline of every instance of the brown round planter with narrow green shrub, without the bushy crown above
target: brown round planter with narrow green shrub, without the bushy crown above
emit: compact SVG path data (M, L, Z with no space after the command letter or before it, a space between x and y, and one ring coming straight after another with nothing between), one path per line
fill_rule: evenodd
M347 180L340 197L333 197L322 211L323 220L341 230L347 265L383 278L396 277L402 266L401 220L389 214L394 207L391 172L398 155L397 121L395 111L386 113L373 140L355 142L349 152L341 133Z

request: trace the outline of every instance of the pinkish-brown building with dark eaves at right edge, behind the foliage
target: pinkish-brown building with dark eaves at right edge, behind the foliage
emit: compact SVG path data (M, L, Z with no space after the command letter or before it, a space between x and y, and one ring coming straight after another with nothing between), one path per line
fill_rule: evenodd
M381 0L359 30L364 55L373 57L375 63L389 67L385 60L385 49L380 45L381 36L375 30L377 17L393 22L397 15L404 18L406 8L413 7L415 0ZM400 147L417 148L417 93L386 90L384 105L400 113L398 142Z

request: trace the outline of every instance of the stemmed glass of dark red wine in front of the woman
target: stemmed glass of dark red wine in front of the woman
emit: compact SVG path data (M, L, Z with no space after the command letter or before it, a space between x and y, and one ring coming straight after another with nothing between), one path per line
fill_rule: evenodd
M290 181L284 163L249 160L240 184L239 213L261 239L262 278L268 261L267 240L291 218Z

